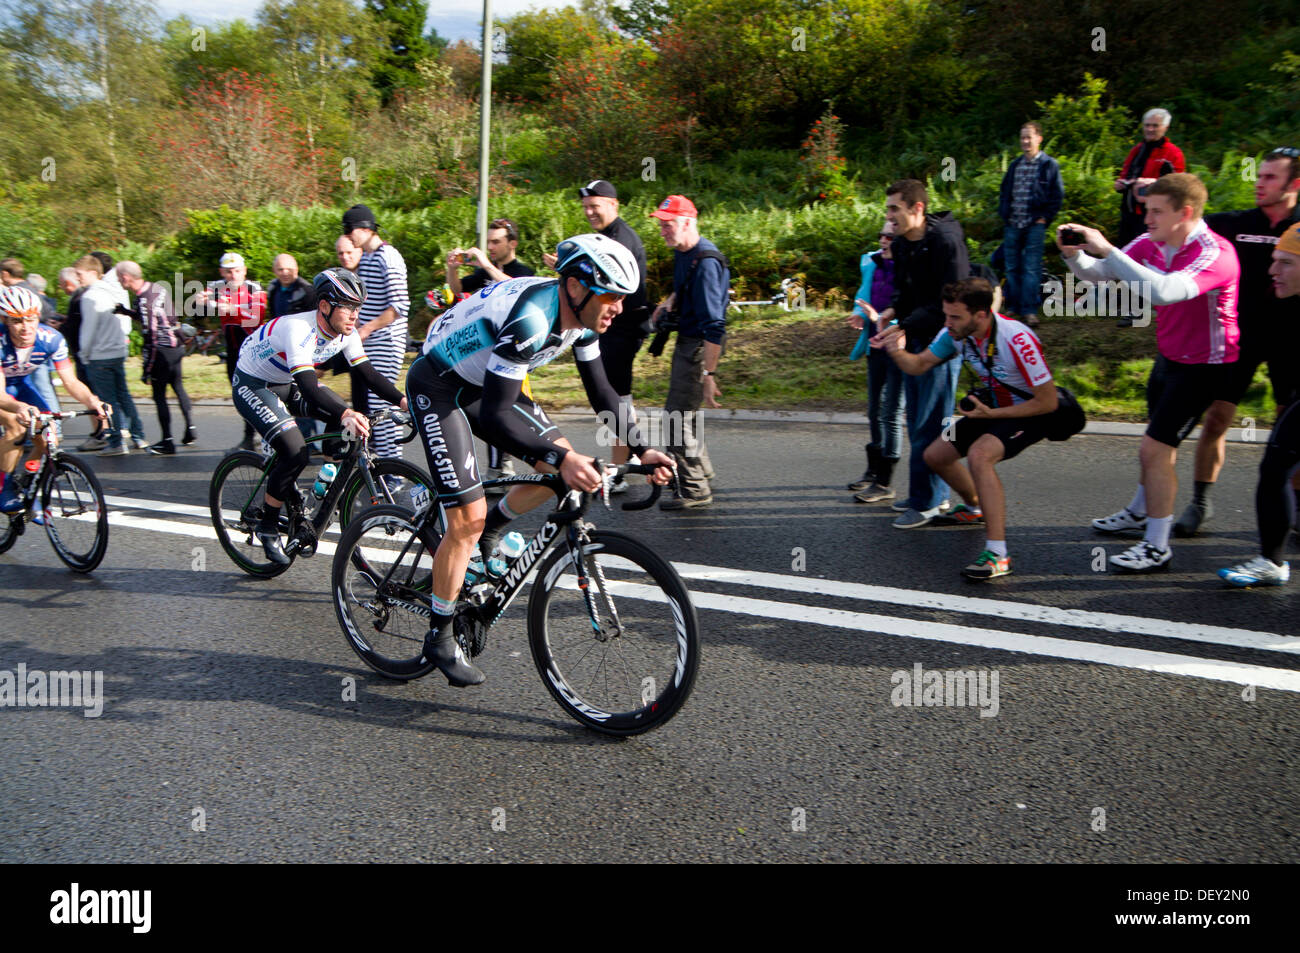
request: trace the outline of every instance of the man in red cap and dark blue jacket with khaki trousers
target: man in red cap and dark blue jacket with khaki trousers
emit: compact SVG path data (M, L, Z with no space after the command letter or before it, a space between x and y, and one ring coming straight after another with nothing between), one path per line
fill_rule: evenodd
M672 294L651 317L655 325L675 315L677 345L668 381L667 451L677 464L677 495L662 510L689 510L714 502L714 465L699 434L701 406L720 407L718 361L727 337L727 289L731 276L718 246L699 235L699 212L685 195L670 195L650 213L673 250Z

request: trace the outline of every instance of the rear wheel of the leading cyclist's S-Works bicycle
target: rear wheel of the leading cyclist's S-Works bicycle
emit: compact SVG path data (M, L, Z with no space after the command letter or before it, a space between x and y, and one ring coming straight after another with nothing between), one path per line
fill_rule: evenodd
M352 520L334 551L330 580L343 637L389 679L419 679L433 670L422 655L439 542L432 525L416 527L407 507L376 506Z

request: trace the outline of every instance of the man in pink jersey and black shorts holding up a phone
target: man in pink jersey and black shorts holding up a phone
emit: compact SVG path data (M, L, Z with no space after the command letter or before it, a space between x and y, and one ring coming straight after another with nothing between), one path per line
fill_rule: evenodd
M1201 221L1209 194L1196 176L1175 173L1144 196L1147 234L1122 251L1096 229L1082 244L1057 244L1070 270L1089 281L1118 280L1156 306L1160 358L1147 382L1147 433L1141 438L1141 481L1132 502L1092 521L1102 533L1145 529L1138 545L1110 556L1128 572L1150 572L1173 558L1178 445L1214 400L1232 400L1231 365L1238 359L1236 298L1240 264L1232 243Z

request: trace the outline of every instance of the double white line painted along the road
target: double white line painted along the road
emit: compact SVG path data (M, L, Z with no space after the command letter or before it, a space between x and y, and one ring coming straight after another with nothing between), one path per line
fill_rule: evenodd
M176 512L177 515L208 516L208 511L204 507L192 507L183 503L165 503L160 501L134 498L110 498L109 502L113 503L114 501L121 501L120 503L116 503L117 506L130 506L138 510L152 508L161 512ZM179 520L157 520L121 512L120 510L109 511L109 521L124 528L173 533L213 541L216 540L216 530L211 524L194 524ZM335 549L335 543L322 540L317 553L320 555L333 555ZM620 567L623 563L624 560L612 560L611 568ZM682 577L688 580L697 579L723 584L731 582L734 585L754 588L780 589L783 592L833 595L838 598L905 605L915 608L942 610L971 615L991 615L1031 623L1046 623L1084 629L1091 628L1104 632L1148 634L1161 638L1179 638L1186 641L1209 642L1265 651L1282 651L1287 654L1300 653L1300 640L1271 632L1252 632L1248 629L1232 629L1219 625L1197 625L1166 619L1148 619L1144 616L1118 615L1110 612L1054 608L1050 606L1037 606L1034 603L1010 602L1005 599L946 595L940 593L893 589L888 586L874 586L858 582L840 582L836 580L786 576L781 573L749 572L744 569L729 569L725 567L701 566L694 563L675 563L673 566L682 575ZM627 567L623 566L621 568ZM633 584L616 582L615 580L611 580L611 584L616 585L619 589L624 590L624 594L633 598L662 598L658 590L653 588L641 592L644 588ZM1204 659L1193 655L1176 655L1173 653L1152 651L1147 649L1098 645L1095 642L1053 638L1048 636L1031 636L1019 632L1002 632L998 629L953 625L949 623L898 619L888 615L855 612L842 608L827 608L802 603L754 599L719 593L693 592L692 599L698 608L722 612L736 612L758 618L780 619L783 621L883 633L901 636L905 638L923 638L936 642L974 645L987 649L1024 653L1030 655L1044 655L1076 662L1092 662L1121 668L1135 668L1166 675L1183 675L1197 679L1228 681L1239 685L1256 685L1260 688L1273 688L1283 692L1300 692L1300 671L1290 671L1284 668L1270 668L1266 666L1244 664L1240 662Z

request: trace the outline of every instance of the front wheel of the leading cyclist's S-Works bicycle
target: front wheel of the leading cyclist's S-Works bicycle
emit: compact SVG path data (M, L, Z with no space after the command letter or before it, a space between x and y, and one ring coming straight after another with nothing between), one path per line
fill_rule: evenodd
M537 568L528 599L533 662L578 722L640 735L672 718L696 683L696 607L677 571L630 537L595 530L584 553L585 588L567 545Z

